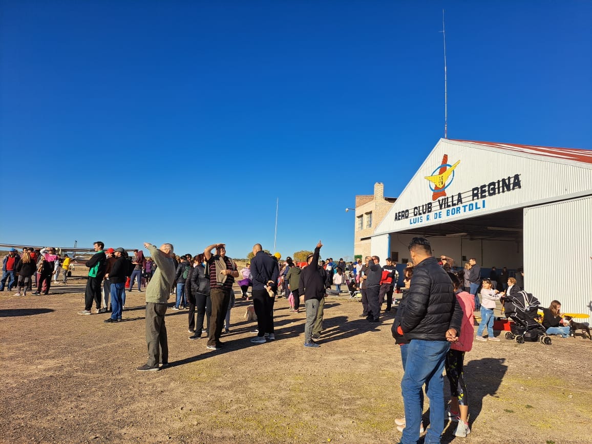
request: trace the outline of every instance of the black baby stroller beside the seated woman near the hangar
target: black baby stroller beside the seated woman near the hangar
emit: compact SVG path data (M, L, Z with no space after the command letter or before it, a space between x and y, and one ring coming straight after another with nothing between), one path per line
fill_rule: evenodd
M506 317L511 318L514 324L511 332L506 332L506 339L513 339L516 343L539 341L545 345L551 345L551 336L546 333L545 327L536 321L540 302L532 294L519 291L506 295Z

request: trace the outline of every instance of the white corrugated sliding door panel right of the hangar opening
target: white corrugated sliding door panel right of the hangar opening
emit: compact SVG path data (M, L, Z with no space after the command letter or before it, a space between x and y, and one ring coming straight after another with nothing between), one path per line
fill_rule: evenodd
M592 315L590 256L592 196L525 208L525 289L543 306L558 300L564 313Z

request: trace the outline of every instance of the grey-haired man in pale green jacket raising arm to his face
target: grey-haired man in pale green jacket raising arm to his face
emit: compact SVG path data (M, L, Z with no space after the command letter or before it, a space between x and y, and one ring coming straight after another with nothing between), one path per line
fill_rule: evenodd
M163 243L159 249L150 243L144 243L152 260L157 265L156 271L146 287L146 342L148 361L136 368L139 372L155 372L169 363L169 343L166 336L166 303L170 297L170 288L175 280L173 246Z

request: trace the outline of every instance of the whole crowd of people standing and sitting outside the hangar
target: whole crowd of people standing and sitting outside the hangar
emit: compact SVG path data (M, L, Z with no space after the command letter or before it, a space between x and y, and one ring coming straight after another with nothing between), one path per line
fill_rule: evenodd
M88 268L85 307L78 313L110 312L104 322L117 323L122 320L126 287L127 291L133 291L137 284L137 290L143 291L145 284L148 356L146 363L137 370L158 371L168 365L165 313L170 295L175 295L172 310L188 308L189 339L199 339L205 333L208 350L224 348L220 338L223 329L229 332L235 281L243 300L252 301L257 317L258 328L256 336L250 339L252 343L275 340L274 303L283 295L289 300L291 313L298 313L304 303L304 346L318 348L327 289L336 285L339 291L340 285L351 278L362 294L361 316L369 323L380 321L382 304L387 303L385 313L393 307L396 309L392 336L400 346L404 369L401 380L404 416L395 419L397 429L403 433L401 443L417 442L424 432L423 387L430 398L426 442L439 442L446 419L458 423L456 436L471 433L464 355L471 351L474 339L499 341L493 332L493 310L496 301L503 301L522 289L518 275L516 278L509 276L504 268L498 276L493 268L489 278L482 278L474 258L457 271L453 259L444 255L435 258L429 241L415 237L408 246L411 262L403 269L400 288L403 294L398 304L393 305L399 275L391 258L386 259L384 266L375 255L366 256L363 263L361 259L350 264L343 259L323 261L320 260L321 247L323 244L319 241L306 262L295 263L288 257L281 264L257 243L253 246L252 260L239 271L236 262L226 256L224 243L211 244L194 256L175 256L170 243L158 248L144 243L150 255L146 258L143 250L134 250L130 256L121 247L105 250L104 243L98 241L94 243L94 255L85 262ZM2 262L0 291L5 287L9 291L17 287L17 296L26 295L35 279L37 291L33 294L49 294L52 278L56 282L63 273L63 282L67 282L71 260L67 255L60 258L54 247L25 248L22 253L12 248ZM523 276L521 270L519 275ZM93 312L92 305L96 307ZM543 310L542 323L546 333L565 337L570 327L562 325L560 309L561 303L552 301L551 306ZM474 312L477 310L481 321L475 335ZM482 336L485 329L487 339ZM447 408L443 397L443 370L452 395Z

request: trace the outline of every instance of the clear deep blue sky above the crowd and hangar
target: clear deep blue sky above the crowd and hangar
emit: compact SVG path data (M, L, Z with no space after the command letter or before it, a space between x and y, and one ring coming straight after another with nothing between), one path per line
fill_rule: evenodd
M4 0L0 242L353 255L443 136L592 147L590 1Z

